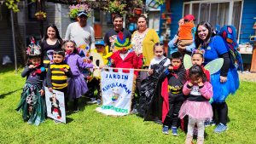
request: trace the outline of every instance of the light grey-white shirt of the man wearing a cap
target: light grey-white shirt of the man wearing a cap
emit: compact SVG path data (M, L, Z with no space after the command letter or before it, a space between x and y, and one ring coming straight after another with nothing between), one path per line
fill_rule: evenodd
M67 26L65 39L73 40L77 46L90 44L90 49L95 49L94 30L91 26L81 27L79 22L73 22Z

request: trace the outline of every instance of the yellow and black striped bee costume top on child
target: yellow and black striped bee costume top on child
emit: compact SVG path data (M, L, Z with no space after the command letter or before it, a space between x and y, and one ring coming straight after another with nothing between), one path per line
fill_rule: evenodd
M65 68L68 72L64 72ZM64 89L67 87L67 78L71 75L70 66L67 64L51 64L47 71L47 85L52 89Z

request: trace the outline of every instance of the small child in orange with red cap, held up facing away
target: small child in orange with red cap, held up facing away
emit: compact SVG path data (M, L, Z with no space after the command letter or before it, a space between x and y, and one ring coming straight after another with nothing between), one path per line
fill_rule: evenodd
M178 42L177 45L180 45L182 47L189 46L194 42L194 33L192 30L194 29L194 20L195 17L192 14L188 14L184 16L184 24L179 26L179 31L177 33L178 36ZM183 49L178 49L182 54L185 53Z

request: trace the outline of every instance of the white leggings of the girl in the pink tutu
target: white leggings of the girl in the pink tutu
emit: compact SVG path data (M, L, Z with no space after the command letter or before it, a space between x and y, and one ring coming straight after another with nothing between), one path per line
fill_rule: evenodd
M205 120L199 120L196 118L192 118L189 116L189 124L188 124L188 133L187 135L192 136L193 130L195 128L195 124L197 126L197 137L204 138L205 134Z

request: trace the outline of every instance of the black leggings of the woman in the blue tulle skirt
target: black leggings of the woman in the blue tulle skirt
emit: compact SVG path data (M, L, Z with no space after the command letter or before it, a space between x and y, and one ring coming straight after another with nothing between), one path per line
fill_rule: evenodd
M212 103L213 119L216 118L216 111L218 113L218 123L227 124L228 118L228 105L223 103Z

